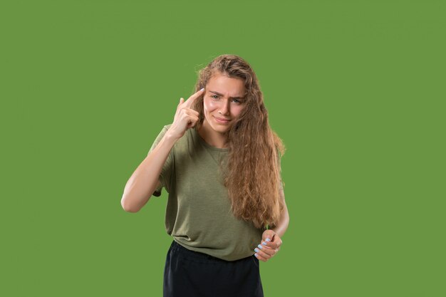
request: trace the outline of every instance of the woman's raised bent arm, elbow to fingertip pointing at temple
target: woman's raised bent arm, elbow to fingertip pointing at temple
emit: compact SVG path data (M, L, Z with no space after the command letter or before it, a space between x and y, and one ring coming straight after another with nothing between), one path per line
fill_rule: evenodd
M204 88L186 101L180 98L172 125L165 132L157 146L145 157L125 184L121 205L126 212L138 212L149 201L160 185L160 173L170 150L190 127L199 120L196 110L191 109L195 99L202 95Z

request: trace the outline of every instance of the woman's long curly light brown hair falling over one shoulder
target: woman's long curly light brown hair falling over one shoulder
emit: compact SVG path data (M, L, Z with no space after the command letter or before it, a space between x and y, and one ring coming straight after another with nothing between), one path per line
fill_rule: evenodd
M274 226L284 208L280 174L284 144L269 126L263 93L249 63L236 55L214 58L198 71L195 92L205 88L214 73L244 80L247 91L245 108L226 132L229 152L227 164L221 168L231 210L235 217L252 222L256 228ZM203 96L192 106L199 113L197 130L204 120Z

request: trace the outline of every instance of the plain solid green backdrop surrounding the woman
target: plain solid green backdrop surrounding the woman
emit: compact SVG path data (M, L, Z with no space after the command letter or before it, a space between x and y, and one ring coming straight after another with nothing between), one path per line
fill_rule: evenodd
M2 1L1 296L162 296L166 192L125 183L223 53L290 214L265 296L446 296L444 1Z

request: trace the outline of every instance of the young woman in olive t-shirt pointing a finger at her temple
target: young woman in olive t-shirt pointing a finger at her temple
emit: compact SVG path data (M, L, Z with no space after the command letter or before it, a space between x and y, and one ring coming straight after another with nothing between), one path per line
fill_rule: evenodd
M239 56L214 58L195 91L180 98L121 204L138 212L163 187L169 193L165 297L263 296L259 260L276 255L289 224L284 146L269 126L256 75Z

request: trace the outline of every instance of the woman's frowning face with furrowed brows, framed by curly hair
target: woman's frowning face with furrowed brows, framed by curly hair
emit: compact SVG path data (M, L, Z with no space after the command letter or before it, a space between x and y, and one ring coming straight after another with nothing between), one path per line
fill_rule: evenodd
M214 73L204 91L204 120L212 130L227 132L246 105L244 81Z

